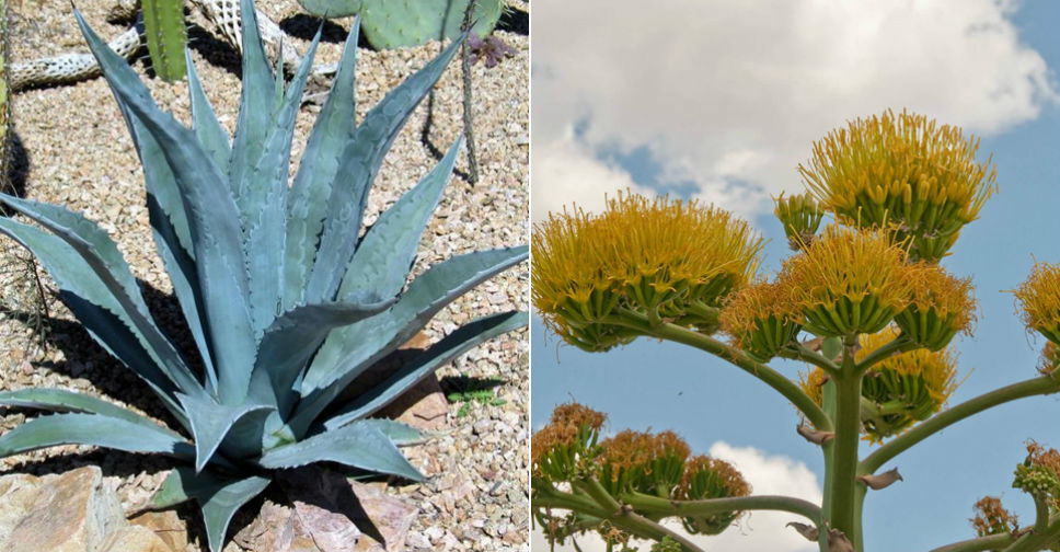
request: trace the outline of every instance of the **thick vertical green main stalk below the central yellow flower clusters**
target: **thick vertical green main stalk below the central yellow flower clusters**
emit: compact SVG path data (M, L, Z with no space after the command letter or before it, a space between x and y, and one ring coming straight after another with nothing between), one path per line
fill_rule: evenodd
M852 355L843 358L842 373L836 382L836 438L831 444L831 493L825 496L832 527L843 531L851 542L857 539L854 494L859 485L857 440L861 433L862 376L854 370Z

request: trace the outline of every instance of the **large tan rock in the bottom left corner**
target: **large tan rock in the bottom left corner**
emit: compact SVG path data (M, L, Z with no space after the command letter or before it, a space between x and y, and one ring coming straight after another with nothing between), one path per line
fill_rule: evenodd
M0 550L7 552L183 552L130 525L94 465L37 478L0 478ZM185 542L186 544L186 542Z

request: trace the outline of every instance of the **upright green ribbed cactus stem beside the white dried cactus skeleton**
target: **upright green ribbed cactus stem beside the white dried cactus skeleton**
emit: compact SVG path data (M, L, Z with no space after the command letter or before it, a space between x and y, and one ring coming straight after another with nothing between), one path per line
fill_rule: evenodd
M147 49L154 73L169 82L183 79L187 71L184 66L187 33L183 0L142 0L141 7Z

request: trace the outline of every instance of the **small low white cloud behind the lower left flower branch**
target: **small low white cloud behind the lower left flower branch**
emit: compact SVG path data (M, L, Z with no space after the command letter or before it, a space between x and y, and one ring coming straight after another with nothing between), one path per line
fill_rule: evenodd
M731 462L744 478L751 484L753 494L779 494L804 498L815 504L821 502L821 488L814 474L802 462L785 456L769 456L751 447L733 447L718 441L711 449L710 455ZM726 552L757 552L770 550L774 552L810 552L816 544L807 541L794 529L786 527L788 521L806 522L794 514L774 511L754 511L745 515L736 527L728 528L717 537L693 537L692 540L704 550L724 550ZM679 525L667 524L671 529L679 529ZM683 531L682 531L683 533ZM602 552L606 547L596 534L578 538L578 545L585 552ZM548 541L541 533L541 528L534 529L531 536L531 550L549 550ZM646 549L646 547L645 547ZM571 552L574 548L556 547L557 552Z

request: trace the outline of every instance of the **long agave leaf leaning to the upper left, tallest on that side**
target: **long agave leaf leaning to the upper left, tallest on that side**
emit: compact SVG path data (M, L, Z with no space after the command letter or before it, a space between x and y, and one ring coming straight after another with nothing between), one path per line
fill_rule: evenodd
M74 12L118 103L143 124L162 148L181 188L203 288L210 354L218 392L227 403L241 401L254 364L254 334L247 301L246 262L239 211L224 177L194 134L151 100L136 73ZM223 321L223 322L221 322Z

